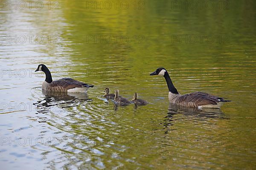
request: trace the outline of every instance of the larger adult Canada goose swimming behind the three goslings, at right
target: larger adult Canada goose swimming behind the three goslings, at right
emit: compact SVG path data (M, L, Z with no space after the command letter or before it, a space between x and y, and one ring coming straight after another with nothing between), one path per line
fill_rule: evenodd
M190 94L180 95L177 89L172 84L172 80L165 68L157 68L156 71L150 74L150 76L154 75L161 75L166 79L166 83L169 88L170 103L196 108L220 108L224 104L224 102L231 101L203 92L194 92Z

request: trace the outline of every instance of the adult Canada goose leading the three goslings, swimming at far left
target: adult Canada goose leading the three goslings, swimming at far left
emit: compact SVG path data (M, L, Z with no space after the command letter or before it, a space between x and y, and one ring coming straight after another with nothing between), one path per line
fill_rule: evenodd
M49 69L44 65L38 65L36 71L43 71L45 73L45 81L43 82L42 89L46 91L68 92L68 93L86 93L88 88L93 85L88 85L84 82L79 82L71 78L63 78L52 81L52 75Z

